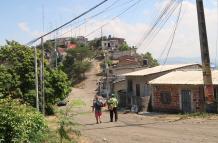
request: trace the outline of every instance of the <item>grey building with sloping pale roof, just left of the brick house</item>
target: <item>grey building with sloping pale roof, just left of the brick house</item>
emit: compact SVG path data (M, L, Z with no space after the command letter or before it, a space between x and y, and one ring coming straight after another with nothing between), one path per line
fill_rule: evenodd
M123 74L126 77L126 105L139 111L151 111L152 86L149 81L176 70L199 70L199 64L163 65Z

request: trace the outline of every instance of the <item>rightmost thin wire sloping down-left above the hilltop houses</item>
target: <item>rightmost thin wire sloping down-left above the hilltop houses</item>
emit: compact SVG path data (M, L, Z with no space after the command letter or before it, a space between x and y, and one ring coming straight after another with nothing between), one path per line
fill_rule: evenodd
M90 32L89 34L87 34L85 37L90 36L91 34L95 33L96 31L98 31L99 29L103 28L104 26L108 25L111 21L115 20L116 18L120 17L121 15L123 15L124 13L126 13L129 9L131 9L132 7L134 7L136 4L138 4L141 0L136 1L134 4L130 5L128 8L126 8L124 11L122 11L120 14L118 14L117 16L113 17L109 22L101 25L100 27L96 28L95 30L93 30L92 32Z

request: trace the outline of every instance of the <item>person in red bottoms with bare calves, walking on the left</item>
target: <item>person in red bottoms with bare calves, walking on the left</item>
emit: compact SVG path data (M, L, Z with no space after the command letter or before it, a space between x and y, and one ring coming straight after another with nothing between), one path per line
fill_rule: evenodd
M102 107L103 103L100 101L100 98L98 96L95 96L95 99L93 100L92 112L95 111L96 124L101 123Z

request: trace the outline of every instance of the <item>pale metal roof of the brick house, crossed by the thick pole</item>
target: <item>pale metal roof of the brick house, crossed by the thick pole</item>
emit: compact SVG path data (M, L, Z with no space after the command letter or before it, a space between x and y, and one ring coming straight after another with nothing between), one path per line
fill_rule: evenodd
M218 85L218 70L212 71L213 84ZM203 73L198 71L174 71L149 81L150 84L202 85Z

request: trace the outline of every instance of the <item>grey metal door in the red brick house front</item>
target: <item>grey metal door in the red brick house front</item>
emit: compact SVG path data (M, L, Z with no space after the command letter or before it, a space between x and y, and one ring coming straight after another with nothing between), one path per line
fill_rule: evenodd
M182 111L184 113L190 113L191 109L191 90L182 90Z

